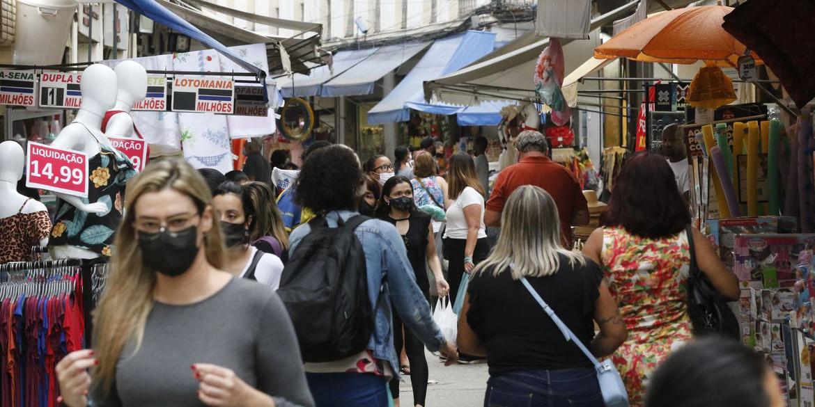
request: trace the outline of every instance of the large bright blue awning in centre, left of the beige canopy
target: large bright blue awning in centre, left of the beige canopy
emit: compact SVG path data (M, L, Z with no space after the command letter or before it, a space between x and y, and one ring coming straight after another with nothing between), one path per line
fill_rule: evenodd
M368 112L368 124L381 125L410 120L410 109L421 112L452 115L464 107L425 103L424 81L456 72L469 63L490 53L496 42L495 33L468 31L436 40L411 72L390 94Z

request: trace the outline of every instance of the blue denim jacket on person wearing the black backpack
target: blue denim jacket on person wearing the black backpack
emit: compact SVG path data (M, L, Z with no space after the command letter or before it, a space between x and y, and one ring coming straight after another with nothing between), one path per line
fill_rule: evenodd
M343 221L358 212L328 212L328 225L337 226L337 216ZM311 231L311 226L303 224L292 232L289 253L297 250L297 245ZM416 285L416 276L407 260L402 237L394 225L371 219L359 225L355 234L365 252L365 265L368 271L368 297L372 309L376 310L375 327L368 341L368 349L381 361L389 361L394 374L399 375L399 356L394 350L394 330L392 327L391 303L410 329L431 352L438 351L444 343L442 331L430 316L430 305ZM380 296L381 287L381 296Z

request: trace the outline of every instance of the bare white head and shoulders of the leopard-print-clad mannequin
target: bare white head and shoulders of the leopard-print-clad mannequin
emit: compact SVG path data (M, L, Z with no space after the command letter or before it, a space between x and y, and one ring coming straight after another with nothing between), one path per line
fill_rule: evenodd
M18 142L8 141L0 143L0 219L12 217L19 212L47 212L48 209L41 202L20 195L17 192L17 182L23 177L25 168L25 153ZM23 204L25 206L23 207ZM20 208L23 208L20 211ZM48 238L40 240L40 246L46 246Z

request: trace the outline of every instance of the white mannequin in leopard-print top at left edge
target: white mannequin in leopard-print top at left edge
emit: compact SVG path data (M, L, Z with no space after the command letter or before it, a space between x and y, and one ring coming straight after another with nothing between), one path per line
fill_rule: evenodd
M31 247L46 246L51 232L46 206L17 192L24 167L23 147L0 143L0 264L33 260Z

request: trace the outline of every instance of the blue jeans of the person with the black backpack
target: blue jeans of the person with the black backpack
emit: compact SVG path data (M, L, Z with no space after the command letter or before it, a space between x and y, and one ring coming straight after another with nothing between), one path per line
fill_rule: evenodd
M306 373L316 407L388 407L387 382L363 373Z

